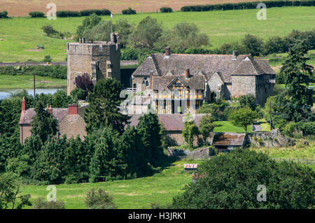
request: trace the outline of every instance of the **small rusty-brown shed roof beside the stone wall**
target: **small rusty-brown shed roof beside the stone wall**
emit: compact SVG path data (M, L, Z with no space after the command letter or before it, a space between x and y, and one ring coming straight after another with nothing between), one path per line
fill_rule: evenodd
M245 135L246 134L218 132L214 135L212 145L241 146L244 143Z

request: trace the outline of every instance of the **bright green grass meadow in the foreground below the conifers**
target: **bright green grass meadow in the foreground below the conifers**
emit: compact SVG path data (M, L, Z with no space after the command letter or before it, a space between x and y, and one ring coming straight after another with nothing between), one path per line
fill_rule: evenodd
M56 185L57 200L64 201L66 208L85 208L85 192L92 188L102 188L110 192L118 208L151 208L151 203L170 203L172 198L183 192L186 184L191 182L191 173L183 172L183 164L201 161L176 161L161 173L134 180L115 180L112 182L81 183L73 185ZM48 194L47 186L25 186L24 194L31 194L31 201Z

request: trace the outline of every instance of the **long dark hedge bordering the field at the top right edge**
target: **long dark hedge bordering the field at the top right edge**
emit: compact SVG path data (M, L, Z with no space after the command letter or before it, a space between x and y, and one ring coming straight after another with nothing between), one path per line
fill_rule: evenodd
M241 3L223 3L213 5L196 5L196 6L183 6L183 12L201 12L210 10L235 10L235 9L251 9L257 8L258 3L265 3L267 8L283 7L283 6L315 6L315 0L302 0L302 1L252 1Z

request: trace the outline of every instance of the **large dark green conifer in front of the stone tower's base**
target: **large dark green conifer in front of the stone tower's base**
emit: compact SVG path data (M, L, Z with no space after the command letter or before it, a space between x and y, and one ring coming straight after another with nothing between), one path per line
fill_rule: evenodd
M119 112L118 106L123 101L120 98L122 89L123 85L113 78L104 78L97 82L93 92L87 96L87 101L90 101L84 113L87 133L108 126L120 134L123 133L130 117Z

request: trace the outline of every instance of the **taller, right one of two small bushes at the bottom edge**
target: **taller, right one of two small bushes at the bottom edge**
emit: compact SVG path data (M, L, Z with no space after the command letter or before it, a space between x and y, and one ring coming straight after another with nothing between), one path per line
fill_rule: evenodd
M113 197L102 189L85 192L85 205L89 209L116 209Z

